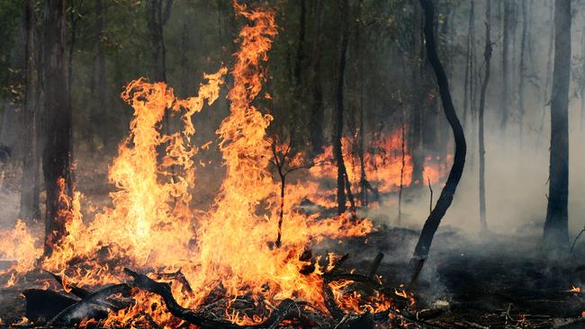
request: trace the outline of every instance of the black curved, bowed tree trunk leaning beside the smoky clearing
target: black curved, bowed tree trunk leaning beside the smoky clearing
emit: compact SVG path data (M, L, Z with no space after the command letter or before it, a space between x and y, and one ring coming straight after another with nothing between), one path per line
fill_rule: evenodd
M441 223L441 219L445 216L446 210L451 206L453 196L457 185L461 180L461 176L464 172L465 165L465 154L467 152L467 146L465 145L464 129L461 126L461 122L457 118L455 106L451 99L451 93L449 92L449 82L445 73L445 69L441 64L441 60L437 55L437 45L435 41L435 35L433 32L433 20L435 16L435 8L432 0L420 0L420 4L425 12L425 46L427 49L428 60L435 71L437 77L437 85L439 88L439 94L441 96L441 102L443 104L443 111L445 112L446 119L453 130L455 138L455 157L453 166L447 177L445 186L441 191L441 194L435 204L435 208L431 211L430 215L425 222L422 231L420 232L419 242L415 247L414 254L411 259L411 264L415 266L415 270L412 276L411 284L419 276L420 270L427 259L430 245L433 242L433 237L437 228Z

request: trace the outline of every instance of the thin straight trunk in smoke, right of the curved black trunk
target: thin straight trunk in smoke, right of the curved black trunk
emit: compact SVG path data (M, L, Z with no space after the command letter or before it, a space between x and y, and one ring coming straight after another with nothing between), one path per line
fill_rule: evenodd
M484 71L482 81L482 93L480 94L480 111L478 113L480 144L480 226L482 233L487 232L488 222L485 209L485 141L483 134L483 112L485 111L485 93L490 83L490 60L491 60L491 0L488 0L485 10L485 50L483 52Z

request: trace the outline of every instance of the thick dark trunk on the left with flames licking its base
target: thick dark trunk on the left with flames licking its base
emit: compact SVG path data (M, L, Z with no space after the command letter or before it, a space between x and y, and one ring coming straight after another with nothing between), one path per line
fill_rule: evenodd
M44 9L44 86L47 111L43 173L47 189L45 254L65 234L65 222L58 218L58 179L70 188L71 103L68 97L67 58L65 54L65 0L45 0Z

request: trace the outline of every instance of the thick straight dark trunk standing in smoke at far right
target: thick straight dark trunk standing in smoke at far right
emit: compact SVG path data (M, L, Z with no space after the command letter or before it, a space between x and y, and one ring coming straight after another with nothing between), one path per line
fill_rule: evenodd
M545 244L569 244L569 83L571 78L571 0L554 2L554 71L551 101L551 160Z

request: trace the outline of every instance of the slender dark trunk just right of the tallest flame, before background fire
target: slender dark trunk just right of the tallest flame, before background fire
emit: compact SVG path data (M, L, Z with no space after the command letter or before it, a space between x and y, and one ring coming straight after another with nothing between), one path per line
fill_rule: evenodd
M338 214L341 215L346 212L346 164L343 160L343 151L341 147L341 138L343 137L343 123L344 123L344 83L346 76L346 57L347 57L347 43L349 42L349 27L347 23L347 15L349 12L348 0L343 0L343 8L341 12L341 47L339 54L339 72L338 72L338 86L336 89L336 120L335 120L335 137L333 138L333 153L335 161L338 164Z

